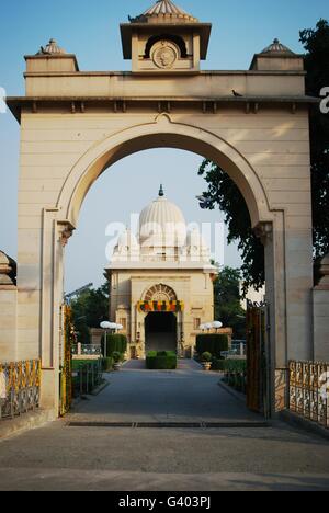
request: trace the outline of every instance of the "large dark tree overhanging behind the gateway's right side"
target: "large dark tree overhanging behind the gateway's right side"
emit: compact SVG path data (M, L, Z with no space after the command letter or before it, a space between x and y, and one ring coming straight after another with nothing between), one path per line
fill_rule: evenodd
M329 24L317 23L316 30L300 32L300 42L307 54L305 66L307 94L319 96L324 87L329 87ZM329 115L321 114L318 105L310 113L311 182L314 216L314 253L316 261L329 252ZM247 204L242 194L225 171L205 160L198 171L205 178L211 209L217 205L225 213L228 226L228 242L238 242L242 256L241 275L243 292L249 286L259 289L264 284L264 248L256 237ZM317 281L318 276L316 276Z

